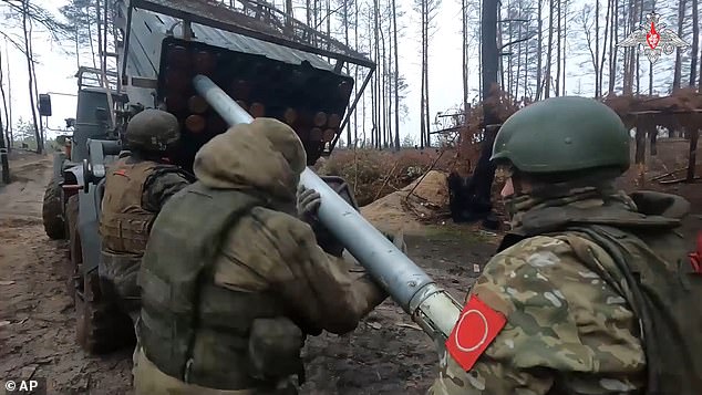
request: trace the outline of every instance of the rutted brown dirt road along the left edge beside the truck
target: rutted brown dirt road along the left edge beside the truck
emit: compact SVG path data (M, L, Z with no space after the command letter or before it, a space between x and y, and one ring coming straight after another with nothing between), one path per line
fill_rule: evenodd
M12 176L0 189L0 376L48 378L50 394L126 393L128 352L92 358L75 345L66 256L41 222L51 159L21 156Z

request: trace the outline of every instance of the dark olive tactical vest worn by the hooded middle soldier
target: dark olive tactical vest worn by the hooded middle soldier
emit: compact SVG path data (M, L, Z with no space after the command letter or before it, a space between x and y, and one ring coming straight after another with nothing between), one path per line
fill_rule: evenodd
M256 319L285 315L280 301L217 287L213 273L227 230L255 206L265 204L195 183L174 195L154 222L140 272L137 330L144 353L165 374L218 389L270 384L248 372L249 332Z

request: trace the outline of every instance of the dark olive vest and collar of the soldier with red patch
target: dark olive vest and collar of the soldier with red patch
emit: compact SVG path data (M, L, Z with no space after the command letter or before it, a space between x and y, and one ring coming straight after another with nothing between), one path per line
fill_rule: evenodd
M580 258L592 251L578 239L599 246L613 264L582 260L627 299L640 321L646 393L696 395L702 391L702 274L692 269L684 239L674 231L679 224L617 207L547 207L526 212L499 250L538 235L566 236Z

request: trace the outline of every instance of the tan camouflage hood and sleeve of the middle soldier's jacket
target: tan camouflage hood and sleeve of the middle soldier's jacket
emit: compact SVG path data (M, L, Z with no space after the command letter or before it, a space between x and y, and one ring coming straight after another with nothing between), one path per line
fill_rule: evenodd
M352 276L342 259L326 253L311 227L296 218L304 157L295 132L268 118L237 125L198 152L194 170L204 185L254 189L272 201L271 208L254 208L227 232L214 280L234 291L275 289L308 334L345 333L386 294L368 274Z

